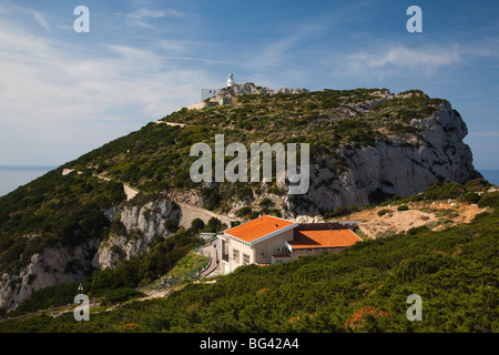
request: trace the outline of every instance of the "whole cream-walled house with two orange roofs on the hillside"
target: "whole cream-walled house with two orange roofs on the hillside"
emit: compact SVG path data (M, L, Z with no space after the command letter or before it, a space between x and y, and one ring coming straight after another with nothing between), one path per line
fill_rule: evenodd
M285 263L324 251L337 253L361 239L357 223L303 223L263 215L224 231L217 258L220 273L248 264Z

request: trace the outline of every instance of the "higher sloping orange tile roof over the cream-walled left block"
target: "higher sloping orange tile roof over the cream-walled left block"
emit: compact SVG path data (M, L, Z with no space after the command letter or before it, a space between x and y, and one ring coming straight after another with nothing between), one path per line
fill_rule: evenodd
M226 230L225 233L251 243L292 224L296 223L269 215L263 215L256 220Z

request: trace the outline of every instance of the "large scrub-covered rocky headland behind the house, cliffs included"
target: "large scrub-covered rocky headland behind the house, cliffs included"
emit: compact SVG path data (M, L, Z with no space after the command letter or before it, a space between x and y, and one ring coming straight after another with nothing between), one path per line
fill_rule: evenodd
M466 124L446 100L418 90L242 85L220 93L223 105L181 109L160 120L173 125L153 121L1 197L0 308L93 273L101 285L132 271L123 285L147 284L200 243L198 232L231 220L327 216L480 178L462 142ZM213 145L215 134L246 146L309 143L308 192L289 195L274 181L194 183L190 149ZM203 224L192 227L196 219ZM134 261L130 270L120 268L125 261Z

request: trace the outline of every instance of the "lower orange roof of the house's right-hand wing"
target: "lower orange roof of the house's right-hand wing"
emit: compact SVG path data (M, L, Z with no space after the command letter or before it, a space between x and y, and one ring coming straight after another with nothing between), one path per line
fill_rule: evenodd
M294 239L288 244L293 251L298 248L316 247L343 247L360 242L350 230L318 230L318 231L296 231Z

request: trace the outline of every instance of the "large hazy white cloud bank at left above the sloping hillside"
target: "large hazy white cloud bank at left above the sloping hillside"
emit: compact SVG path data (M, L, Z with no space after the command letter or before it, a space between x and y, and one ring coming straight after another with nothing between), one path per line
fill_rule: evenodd
M92 44L96 45L96 44ZM204 70L153 51L89 52L0 21L0 164L59 164L200 100Z

